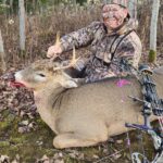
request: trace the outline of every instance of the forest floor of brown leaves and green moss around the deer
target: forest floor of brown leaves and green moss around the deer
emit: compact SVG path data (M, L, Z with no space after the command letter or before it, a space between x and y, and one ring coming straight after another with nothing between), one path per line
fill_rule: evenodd
M158 61L163 64L163 57ZM14 71L12 67L5 75ZM138 130L129 131L130 146L124 134L96 147L58 150L52 146L53 137L37 112L33 92L12 87L1 77L0 163L130 163L130 153L135 151L145 152L150 159L154 156L151 138Z

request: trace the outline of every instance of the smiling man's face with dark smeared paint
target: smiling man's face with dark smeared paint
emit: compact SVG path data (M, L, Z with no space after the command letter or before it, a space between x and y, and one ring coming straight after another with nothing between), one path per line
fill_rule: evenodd
M127 9L118 4L105 4L102 9L103 23L106 27L115 29L123 24L127 13Z

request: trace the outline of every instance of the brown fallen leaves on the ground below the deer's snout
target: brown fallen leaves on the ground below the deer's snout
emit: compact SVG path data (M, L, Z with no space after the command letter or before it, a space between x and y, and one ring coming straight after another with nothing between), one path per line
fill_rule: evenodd
M18 124L18 131L27 133L37 128L34 118L38 113L34 96L30 90L24 87L11 86L10 76L12 73L7 73L0 77L0 121L5 118L2 113L8 110L11 114L25 118Z

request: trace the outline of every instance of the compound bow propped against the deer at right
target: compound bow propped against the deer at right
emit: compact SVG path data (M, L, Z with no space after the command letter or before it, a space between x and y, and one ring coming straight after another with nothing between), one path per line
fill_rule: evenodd
M124 59L122 59L118 63L118 67L121 72L129 72L134 75L137 74L136 76L140 82L143 95L142 100L131 96L129 96L129 98L131 98L134 101L139 101L142 103L141 113L145 124L139 125L126 123L125 126L148 133L153 139L154 148L156 151L156 155L152 162L149 162L145 155L138 152L131 154L131 161L133 163L163 163L163 120L161 120L162 122L160 123L162 128L159 129L152 127L149 120L150 115L152 114L158 116L159 118L162 118L161 116L163 116L163 99L160 99L158 97L155 88L156 85L152 79L153 72L147 65L139 66L139 70L137 71L135 67L131 66L131 64L128 63L128 61ZM140 160L140 158L142 159Z

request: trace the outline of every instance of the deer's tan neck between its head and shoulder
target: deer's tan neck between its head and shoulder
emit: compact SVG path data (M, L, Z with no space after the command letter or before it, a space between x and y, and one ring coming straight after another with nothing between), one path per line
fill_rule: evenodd
M59 105L54 103L60 103L58 100L64 88L61 86L55 88L47 86L42 90L34 91L35 103L41 118L55 133L55 116L59 113Z

